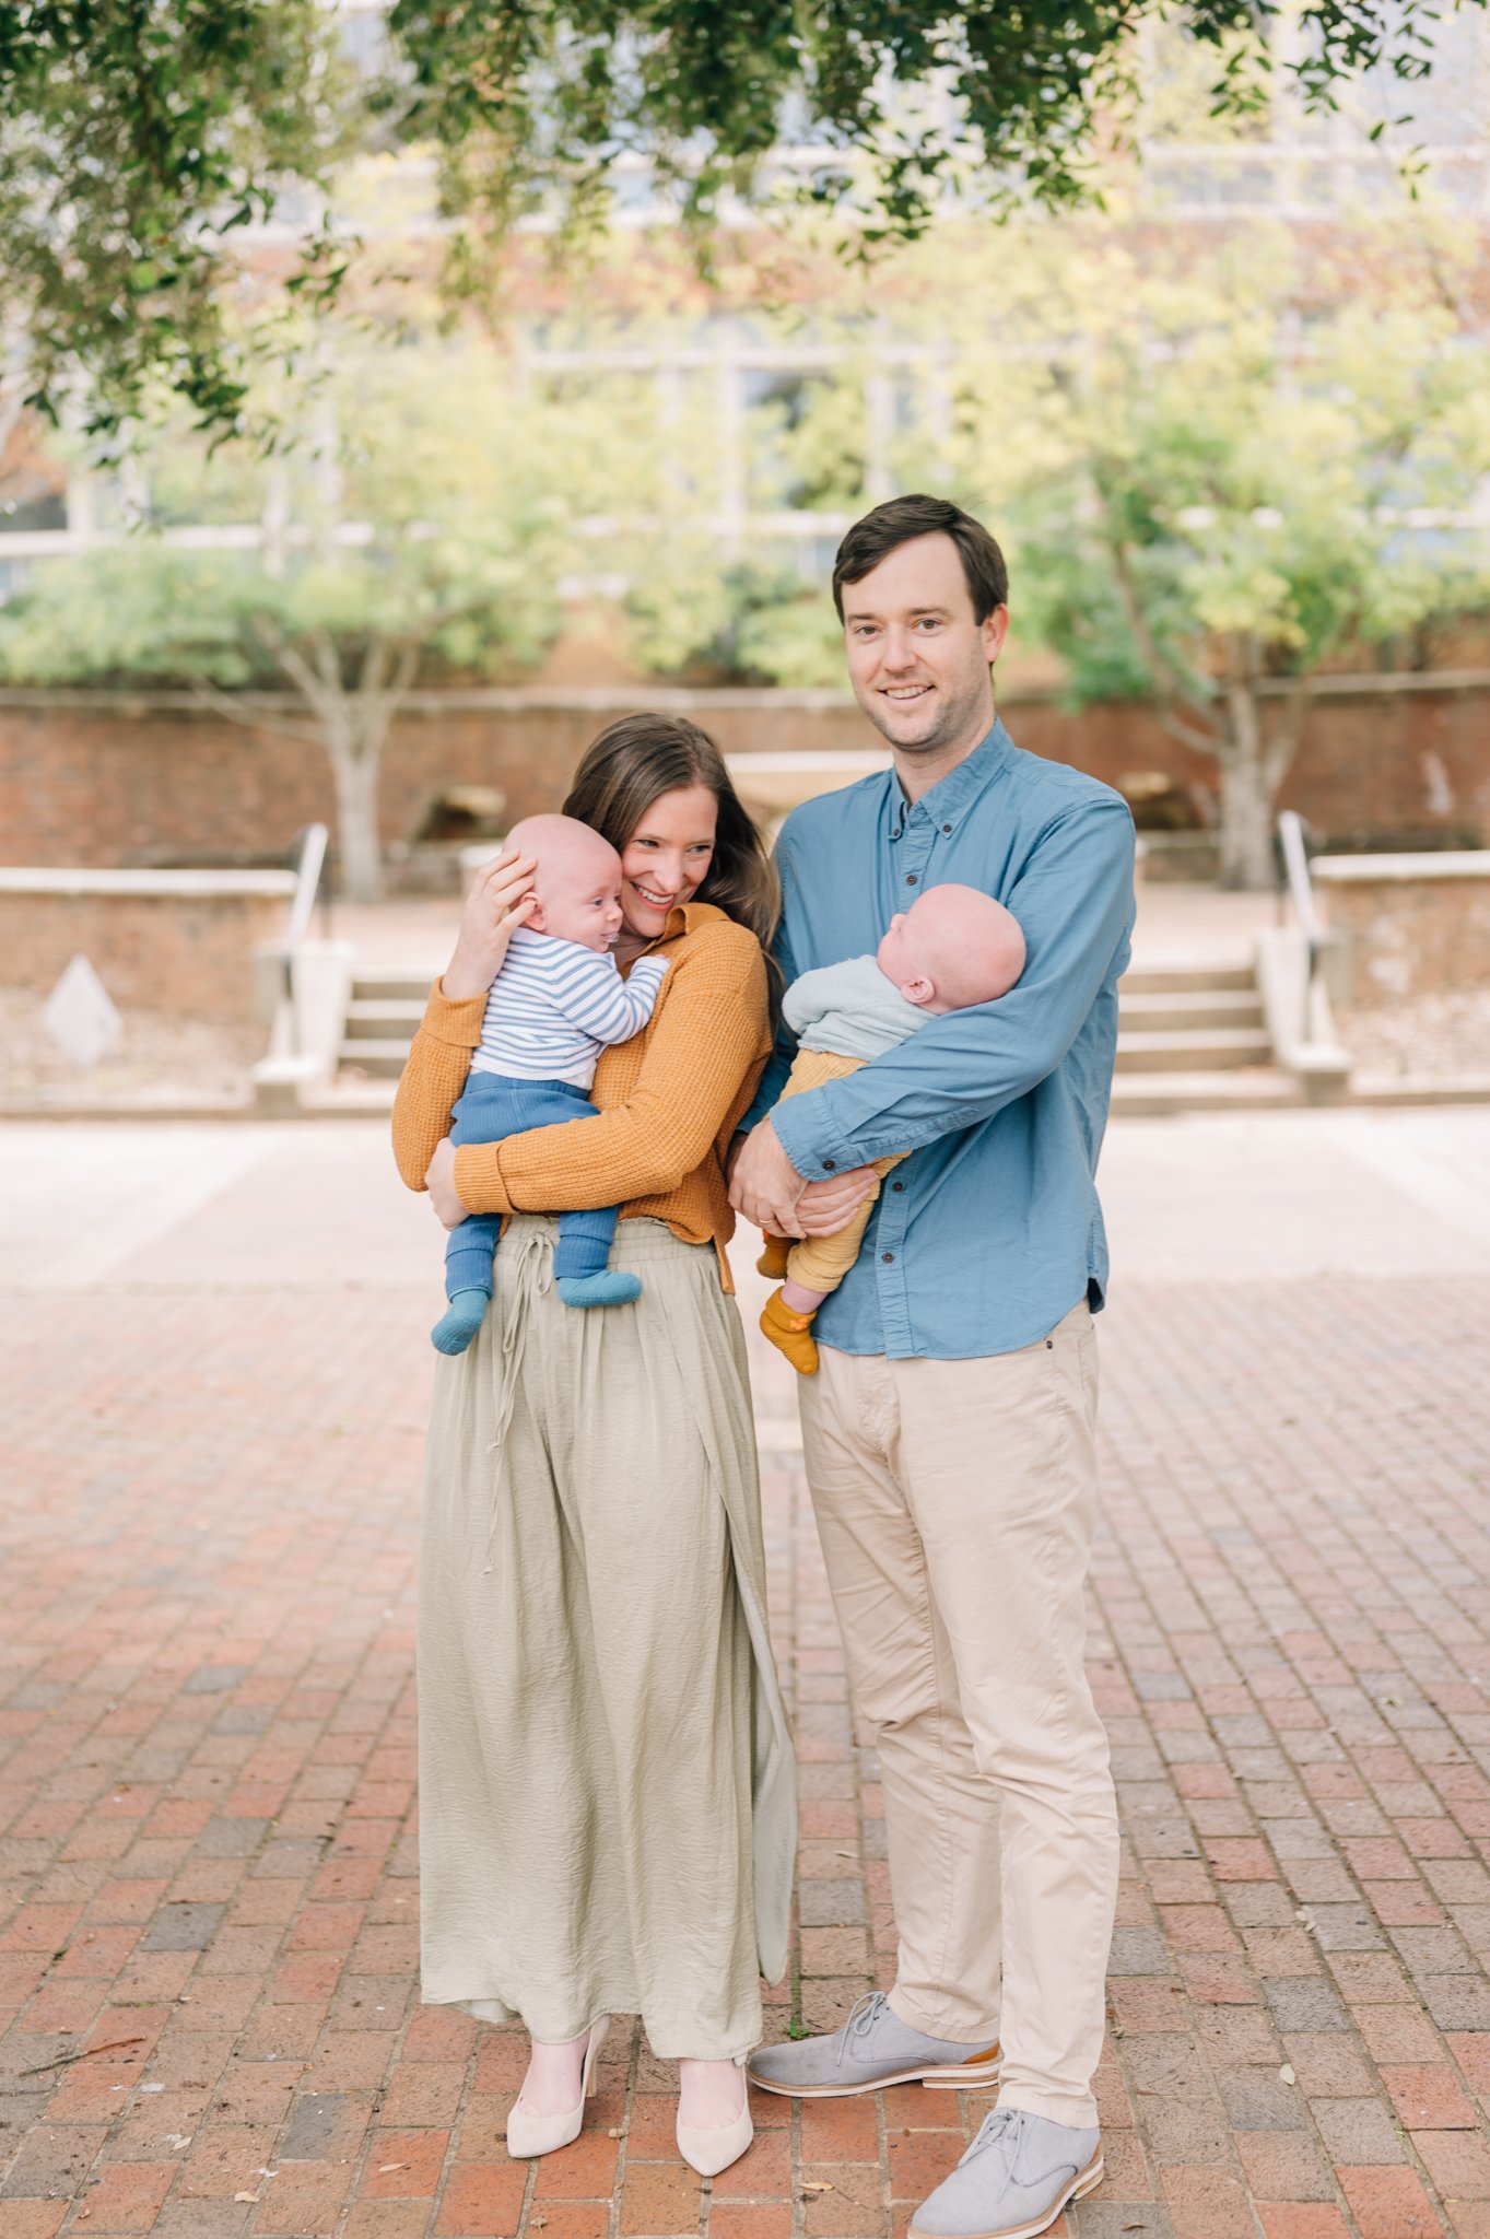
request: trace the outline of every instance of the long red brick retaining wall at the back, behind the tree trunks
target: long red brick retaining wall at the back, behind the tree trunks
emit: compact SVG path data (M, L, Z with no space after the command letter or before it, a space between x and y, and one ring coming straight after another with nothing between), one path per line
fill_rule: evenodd
M647 687L633 705L647 705ZM727 705L705 692L689 705L732 752L870 741L852 708L803 710L770 694ZM512 817L555 806L611 712L459 701L405 712L385 761L385 842L412 840L447 784L501 786ZM1002 712L1020 746L1110 784L1130 770L1215 784L1213 768L1172 743L1145 708L1065 714L1049 701L1009 701ZM1472 844L1490 833L1490 692L1320 703L1284 806L1338 837L1443 833ZM0 862L262 862L313 817L333 822L331 781L313 746L170 701L72 694L25 705L20 694L0 694Z

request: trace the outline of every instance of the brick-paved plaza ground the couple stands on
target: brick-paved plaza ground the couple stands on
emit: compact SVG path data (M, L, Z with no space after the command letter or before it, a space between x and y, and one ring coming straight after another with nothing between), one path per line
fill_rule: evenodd
M622 2026L582 2143L515 2165L519 2040L416 2004L438 1249L371 1131L0 1140L2 2239L904 2230L987 2100L763 2100L702 2188ZM1081 2239L1490 2235L1488 1144L1112 1144L1092 1668L1125 1872ZM758 1368L803 1793L781 2031L884 1979L890 1912Z

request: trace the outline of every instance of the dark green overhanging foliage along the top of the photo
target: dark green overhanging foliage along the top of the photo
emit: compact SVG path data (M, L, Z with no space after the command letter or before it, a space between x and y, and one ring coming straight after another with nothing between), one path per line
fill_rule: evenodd
M1418 78L1441 13L1302 0L1284 76L1313 107L1367 67ZM537 208L597 217L633 154L707 231L727 193L779 197L781 146L855 240L904 240L958 179L1076 199L1157 16L1215 58L1215 112L1266 105L1269 0L394 0L378 74L318 0L0 0L0 430L34 396L107 432L159 385L239 430L255 352L293 345L235 233L275 217L273 278L333 296L349 148L436 143L456 260Z

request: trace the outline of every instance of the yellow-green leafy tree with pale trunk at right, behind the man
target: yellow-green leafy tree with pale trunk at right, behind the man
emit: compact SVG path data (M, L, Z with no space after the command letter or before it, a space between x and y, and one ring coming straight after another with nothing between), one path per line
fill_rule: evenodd
M1152 701L1213 766L1242 884L1271 880L1273 799L1324 672L1414 658L1490 611L1490 349L1454 287L1472 240L1430 240L1416 213L1331 249L1251 226L1199 255L1092 213L944 226L886 291L915 327L924 284L937 318L879 472L1007 542L1016 654L1058 656L1074 703ZM864 376L841 358L817 378L781 455L826 522L868 504ZM826 584L761 558L660 551L631 582L640 656L841 683Z

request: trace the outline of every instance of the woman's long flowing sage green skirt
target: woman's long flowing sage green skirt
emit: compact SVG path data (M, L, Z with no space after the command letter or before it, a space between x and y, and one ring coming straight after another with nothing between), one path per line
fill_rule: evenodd
M745 1339L709 1245L622 1220L575 1310L519 1214L434 1386L418 1572L423 1997L741 2058L785 1968L792 1742Z

